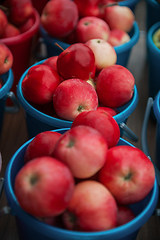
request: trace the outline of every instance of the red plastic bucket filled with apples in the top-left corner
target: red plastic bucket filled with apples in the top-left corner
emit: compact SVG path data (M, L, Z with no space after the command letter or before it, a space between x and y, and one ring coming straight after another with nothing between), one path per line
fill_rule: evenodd
M14 83L12 91L16 95L16 85L22 73L30 66L34 36L38 32L40 16L30 0L3 1L0 16L3 19L0 41L13 54ZM3 15L3 17L2 17ZM12 105L7 101L7 105Z

